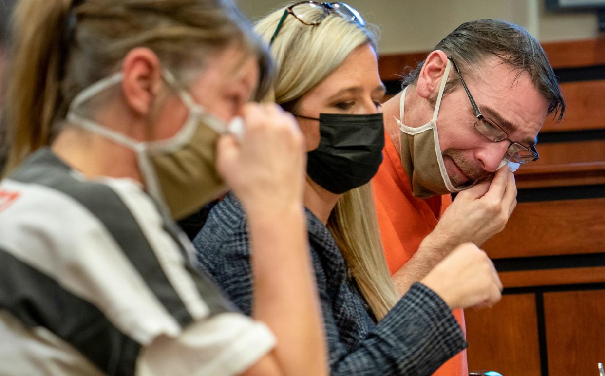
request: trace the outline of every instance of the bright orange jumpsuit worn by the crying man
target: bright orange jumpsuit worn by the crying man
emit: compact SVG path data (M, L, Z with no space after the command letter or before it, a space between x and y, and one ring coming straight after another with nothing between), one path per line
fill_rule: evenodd
M451 204L451 196L432 196L428 199L414 197L388 134L385 134L383 156L384 160L372 184L382 244L388 267L394 274L418 250L420 241L433 231L443 211ZM463 311L455 310L454 316L466 332ZM466 351L448 360L433 375L467 376Z

